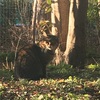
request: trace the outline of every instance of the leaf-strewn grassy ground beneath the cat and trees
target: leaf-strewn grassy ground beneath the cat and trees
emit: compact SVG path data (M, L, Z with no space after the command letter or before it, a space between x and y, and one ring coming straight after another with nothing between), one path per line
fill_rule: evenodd
M99 100L100 66L79 70L66 64L47 67L47 79L13 80L13 72L0 70L0 100Z

